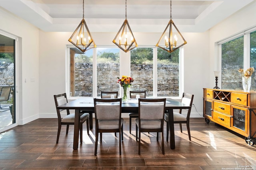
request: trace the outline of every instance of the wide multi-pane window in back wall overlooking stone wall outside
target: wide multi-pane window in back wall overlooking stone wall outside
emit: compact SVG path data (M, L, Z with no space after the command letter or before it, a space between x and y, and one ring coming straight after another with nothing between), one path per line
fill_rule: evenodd
M119 48L90 49L85 53L68 46L69 97L97 97L101 91L119 91L122 76ZM124 54L127 60L127 53ZM135 48L130 51L131 90L146 90L148 97L178 97L180 94L179 49L168 53L157 47ZM127 69L127 68L125 68ZM155 80L154 80L155 78Z

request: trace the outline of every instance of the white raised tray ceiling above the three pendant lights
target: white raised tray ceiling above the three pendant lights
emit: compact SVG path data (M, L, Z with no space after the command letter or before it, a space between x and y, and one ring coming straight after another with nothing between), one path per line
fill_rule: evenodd
M254 0L172 0L172 20L181 32L204 32ZM43 31L72 32L82 20L82 0L0 0L0 7ZM91 32L117 32L125 19L125 0L84 0ZM163 32L170 0L127 0L133 32Z

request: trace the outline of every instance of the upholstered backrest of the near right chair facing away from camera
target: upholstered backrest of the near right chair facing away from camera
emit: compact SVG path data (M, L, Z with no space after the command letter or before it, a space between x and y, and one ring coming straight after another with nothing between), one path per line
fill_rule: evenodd
M166 98L142 99L139 98L139 119L156 120L164 119Z

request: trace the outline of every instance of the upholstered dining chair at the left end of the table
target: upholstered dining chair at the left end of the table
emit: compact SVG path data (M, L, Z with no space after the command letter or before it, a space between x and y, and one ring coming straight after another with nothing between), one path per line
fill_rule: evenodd
M70 111L66 109L67 115L62 117L60 112L63 111L64 109L60 110L57 107L63 104L68 103L67 95L66 93L63 94L58 94L54 95L54 101L55 101L55 106L56 106L56 111L58 115L58 134L57 134L57 140L56 143L59 142L59 137L60 137L60 130L62 125L67 125L66 128L66 134L68 134L68 128L69 125L74 125L75 122L75 114L70 114ZM80 131L80 143L83 141L83 123L86 121L87 125L87 134L89 135L89 113L80 113L80 124L79 124L79 131Z

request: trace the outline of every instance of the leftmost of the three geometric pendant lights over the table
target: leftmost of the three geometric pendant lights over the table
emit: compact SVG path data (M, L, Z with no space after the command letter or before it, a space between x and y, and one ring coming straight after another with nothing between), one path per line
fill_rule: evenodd
M92 39L91 33L84 20L84 0L83 0L83 19L68 39L70 43L75 45L83 53L89 49L95 48L96 45Z

